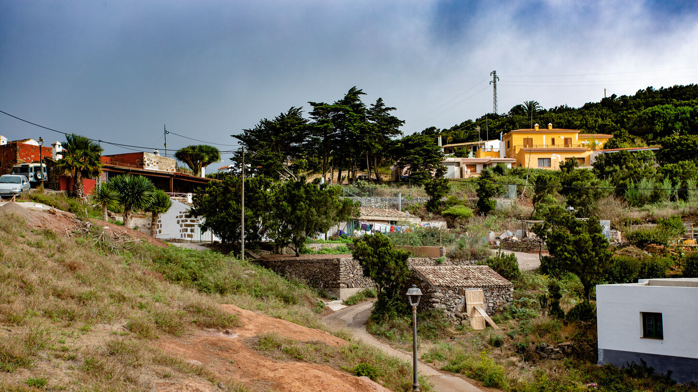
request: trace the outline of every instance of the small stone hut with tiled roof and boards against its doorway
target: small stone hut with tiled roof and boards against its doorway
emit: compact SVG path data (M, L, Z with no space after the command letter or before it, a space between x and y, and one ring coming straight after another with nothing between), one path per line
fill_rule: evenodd
M419 306L443 310L454 324L467 318L463 312L463 289L482 289L488 315L503 310L514 293L512 282L489 266L415 266L414 271L424 282Z

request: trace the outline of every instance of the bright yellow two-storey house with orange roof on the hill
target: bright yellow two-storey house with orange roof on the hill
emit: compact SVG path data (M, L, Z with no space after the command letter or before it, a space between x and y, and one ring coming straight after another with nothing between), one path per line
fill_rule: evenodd
M580 166L591 165L591 152L600 149L612 135L579 133L577 129L517 129L503 135L507 158L517 160L516 166L559 169L560 163L579 160Z

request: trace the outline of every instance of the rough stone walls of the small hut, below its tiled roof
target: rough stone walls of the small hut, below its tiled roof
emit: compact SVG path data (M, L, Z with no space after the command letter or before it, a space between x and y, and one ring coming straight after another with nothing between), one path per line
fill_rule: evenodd
M424 285L424 284L422 284ZM467 324L468 315L463 312L463 294L461 289L480 289L484 296L484 308L488 315L504 310L504 306L512 301L514 286L496 287L427 287L422 289L424 308L443 310L452 324ZM422 302L419 303L422 306Z

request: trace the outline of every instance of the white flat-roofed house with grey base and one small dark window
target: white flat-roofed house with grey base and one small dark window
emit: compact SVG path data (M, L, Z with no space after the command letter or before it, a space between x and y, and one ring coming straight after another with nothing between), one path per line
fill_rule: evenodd
M645 361L698 382L698 278L596 286L598 363Z

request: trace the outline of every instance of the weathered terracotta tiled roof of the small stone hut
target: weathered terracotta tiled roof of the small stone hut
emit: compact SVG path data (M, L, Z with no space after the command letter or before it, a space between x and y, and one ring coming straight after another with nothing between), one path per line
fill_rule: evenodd
M415 266L415 271L433 287L512 286L489 266Z

